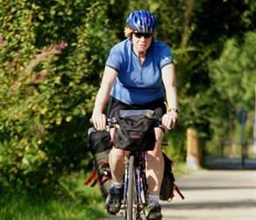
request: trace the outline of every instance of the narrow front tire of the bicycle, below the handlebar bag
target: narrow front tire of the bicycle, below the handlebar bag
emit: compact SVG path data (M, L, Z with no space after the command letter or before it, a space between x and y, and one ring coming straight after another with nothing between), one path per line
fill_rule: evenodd
M134 162L135 162L135 157L132 155L129 159L127 220L136 219L136 209L134 209L134 204L136 204Z

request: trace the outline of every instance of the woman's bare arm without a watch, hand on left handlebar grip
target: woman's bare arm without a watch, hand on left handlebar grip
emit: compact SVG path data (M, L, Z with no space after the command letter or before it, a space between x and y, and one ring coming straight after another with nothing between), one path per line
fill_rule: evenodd
M94 111L92 119L94 121L94 128L104 129L106 128L106 115L103 114L104 107L109 99L109 93L117 79L117 70L114 70L108 66L105 67L102 77L101 88L95 99Z

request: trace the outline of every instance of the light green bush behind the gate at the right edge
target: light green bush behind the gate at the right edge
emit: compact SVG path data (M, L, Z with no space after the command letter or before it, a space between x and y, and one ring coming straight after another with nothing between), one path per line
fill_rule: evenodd
M220 117L214 115L211 120L218 139L234 140L237 135L234 126L238 127L236 112L245 108L248 114L246 139L252 140L256 82L255 40L256 33L247 33L244 44L228 40L220 59L209 62L211 78L216 85L215 93L219 98L214 108L215 114L221 113ZM230 120L226 121L225 118Z

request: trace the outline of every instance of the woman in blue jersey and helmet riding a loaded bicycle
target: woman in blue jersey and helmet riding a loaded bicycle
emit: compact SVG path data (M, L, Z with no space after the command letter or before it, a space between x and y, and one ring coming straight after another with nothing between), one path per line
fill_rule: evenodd
M94 103L94 127L106 127L104 106L108 101L108 118L118 110L151 109L154 118L162 118L162 128L174 128L177 121L177 89L173 58L168 45L154 40L156 21L148 11L133 11L126 20L126 40L115 45L106 62L101 88ZM164 103L164 89L169 106ZM147 151L148 215L147 219L162 219L159 194L164 162L162 158L162 128L155 130L154 150ZM119 211L124 177L124 150L113 148L109 154L112 186L106 209ZM111 207L112 206L112 207Z

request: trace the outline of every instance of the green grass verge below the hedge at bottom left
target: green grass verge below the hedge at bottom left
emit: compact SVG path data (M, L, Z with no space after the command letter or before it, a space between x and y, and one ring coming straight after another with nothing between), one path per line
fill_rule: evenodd
M87 175L62 180L56 194L27 195L0 190L2 220L97 220L107 213L97 187L86 187Z

